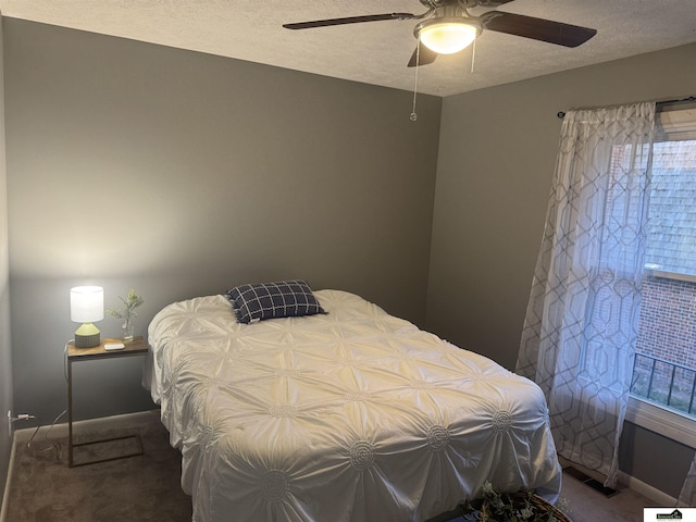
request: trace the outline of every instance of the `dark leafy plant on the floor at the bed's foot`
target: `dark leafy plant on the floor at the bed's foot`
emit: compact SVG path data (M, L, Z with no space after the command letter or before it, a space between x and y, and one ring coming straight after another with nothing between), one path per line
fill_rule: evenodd
M533 490L499 493L489 482L483 485L481 498L462 508L468 522L572 522L563 511L552 506Z

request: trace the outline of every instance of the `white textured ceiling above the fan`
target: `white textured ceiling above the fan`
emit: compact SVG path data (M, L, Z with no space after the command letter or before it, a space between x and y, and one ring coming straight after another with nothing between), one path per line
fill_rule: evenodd
M418 0L0 0L4 16L412 90L417 21L306 30L282 24L390 12ZM696 0L515 0L500 11L593 27L568 49L485 32L472 48L419 69L418 90L450 96L696 41ZM472 14L490 11L476 8ZM696 57L695 57L696 66Z

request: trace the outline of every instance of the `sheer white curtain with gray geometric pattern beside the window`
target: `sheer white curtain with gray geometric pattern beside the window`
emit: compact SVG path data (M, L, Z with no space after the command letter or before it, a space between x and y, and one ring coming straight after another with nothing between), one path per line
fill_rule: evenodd
M655 103L570 111L517 371L559 455L613 486L641 304Z

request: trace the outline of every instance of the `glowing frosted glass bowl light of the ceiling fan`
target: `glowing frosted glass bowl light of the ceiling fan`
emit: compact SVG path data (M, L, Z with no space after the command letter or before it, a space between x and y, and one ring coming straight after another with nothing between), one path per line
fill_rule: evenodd
M438 54L453 54L471 45L481 34L481 24L471 18L448 16L418 24L415 37Z

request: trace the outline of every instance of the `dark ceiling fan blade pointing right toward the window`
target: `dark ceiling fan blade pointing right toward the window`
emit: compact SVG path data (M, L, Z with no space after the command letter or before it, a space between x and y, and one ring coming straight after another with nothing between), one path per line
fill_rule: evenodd
M523 36L564 47L577 47L597 34L597 29L588 27L499 11L484 13L480 20L488 30Z

